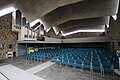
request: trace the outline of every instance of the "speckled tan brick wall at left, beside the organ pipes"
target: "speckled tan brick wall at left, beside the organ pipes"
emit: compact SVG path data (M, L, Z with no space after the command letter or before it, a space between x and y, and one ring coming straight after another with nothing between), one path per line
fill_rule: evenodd
M3 44L3 48L0 49L0 58L4 58L7 51L16 50L17 34L12 32L12 14L0 17L0 41ZM11 49L9 44L12 44Z

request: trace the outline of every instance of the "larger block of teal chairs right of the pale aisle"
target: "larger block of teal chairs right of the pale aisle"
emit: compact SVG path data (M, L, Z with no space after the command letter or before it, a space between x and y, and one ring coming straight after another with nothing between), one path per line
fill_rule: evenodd
M114 68L118 68L117 57L113 57L110 51L97 48L68 48L63 54L56 56L51 60L61 65L79 67L93 71L113 72Z

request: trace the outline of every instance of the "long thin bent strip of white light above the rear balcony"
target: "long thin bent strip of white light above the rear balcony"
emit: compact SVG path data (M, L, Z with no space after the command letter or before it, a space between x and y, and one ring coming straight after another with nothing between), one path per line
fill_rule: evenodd
M79 32L105 32L105 29L90 29L90 30L77 30L77 31L72 31L69 33L63 33L63 31L61 31L63 36L67 36L67 35L71 35L71 34L75 34L75 33L79 33Z

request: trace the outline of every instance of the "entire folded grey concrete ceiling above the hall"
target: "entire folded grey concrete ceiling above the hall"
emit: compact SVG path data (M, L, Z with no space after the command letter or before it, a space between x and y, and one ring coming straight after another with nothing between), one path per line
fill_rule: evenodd
M46 28L63 32L109 24L118 5L119 0L0 0L0 10L14 6L27 21L40 18Z

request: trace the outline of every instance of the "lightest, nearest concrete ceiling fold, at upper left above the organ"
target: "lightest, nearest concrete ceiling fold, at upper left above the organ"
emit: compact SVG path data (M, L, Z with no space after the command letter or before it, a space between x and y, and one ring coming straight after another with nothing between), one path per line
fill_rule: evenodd
M20 0L16 8L20 9L28 21L44 16L52 10L83 0Z

